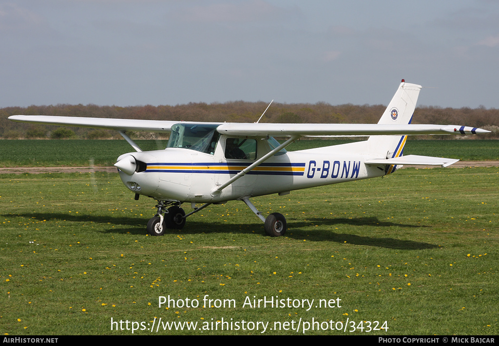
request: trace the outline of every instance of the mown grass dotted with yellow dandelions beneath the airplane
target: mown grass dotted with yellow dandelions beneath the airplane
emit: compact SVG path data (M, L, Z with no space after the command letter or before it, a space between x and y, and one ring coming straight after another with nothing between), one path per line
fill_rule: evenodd
M155 317L199 327L313 318L387 321L387 332L369 333L377 335L499 333L497 168L406 169L252 198L264 213L286 215L279 238L265 236L240 201L146 236L155 202L135 201L117 174L1 174L0 184L1 334L131 335L111 331L111 318ZM237 307L159 308L168 295L200 306L205 295L234 299ZM341 308L243 308L253 296L339 298Z

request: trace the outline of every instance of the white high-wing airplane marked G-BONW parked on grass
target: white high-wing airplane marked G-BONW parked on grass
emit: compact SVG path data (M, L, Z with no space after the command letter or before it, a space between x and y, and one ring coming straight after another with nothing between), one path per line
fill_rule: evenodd
M9 119L119 131L135 149L121 155L114 165L121 180L135 193L135 199L144 195L158 201L157 213L147 224L150 235L183 228L188 216L210 204L242 200L264 222L265 233L275 237L286 232L286 219L280 213L265 218L251 197L281 196L301 188L383 176L402 165L447 167L459 160L402 156L407 135L490 132L466 126L411 124L421 88L402 80L378 124L198 123L25 115ZM171 134L166 149L143 152L125 131ZM272 136L288 139L279 144ZM284 149L306 136L370 137L295 152ZM186 202L194 209L187 215L181 208ZM196 203L203 205L196 207Z

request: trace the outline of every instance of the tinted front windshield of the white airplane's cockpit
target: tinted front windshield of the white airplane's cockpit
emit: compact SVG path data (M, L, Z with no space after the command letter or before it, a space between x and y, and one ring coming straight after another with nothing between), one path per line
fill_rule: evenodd
M201 153L215 153L220 134L220 124L175 124L167 148L186 148Z

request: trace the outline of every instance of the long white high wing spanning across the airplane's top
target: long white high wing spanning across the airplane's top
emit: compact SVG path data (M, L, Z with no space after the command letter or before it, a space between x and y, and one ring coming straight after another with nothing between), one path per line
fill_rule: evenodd
M116 118L57 117L13 115L8 119L20 123L76 126L117 131L170 132L178 121ZM197 123L197 122L185 122ZM204 123L220 124L220 123ZM374 135L449 135L480 134L490 131L457 125L391 125L391 124L268 124L224 123L217 131L231 136L374 136Z

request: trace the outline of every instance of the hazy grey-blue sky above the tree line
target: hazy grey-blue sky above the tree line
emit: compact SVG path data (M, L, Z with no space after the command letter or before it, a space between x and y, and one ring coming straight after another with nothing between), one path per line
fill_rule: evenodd
M0 107L189 102L499 108L499 1L0 2Z

